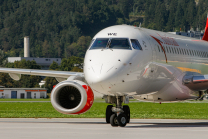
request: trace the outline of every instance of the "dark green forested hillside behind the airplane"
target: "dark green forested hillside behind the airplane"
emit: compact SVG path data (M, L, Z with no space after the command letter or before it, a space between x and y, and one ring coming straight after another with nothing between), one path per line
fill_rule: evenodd
M83 60L91 39L105 27L141 23L166 32L204 30L207 9L208 0L0 0L0 65L23 68L24 64L4 59L23 56L23 38L29 36L31 57L59 57L63 64L53 63L51 69L80 71L67 66L70 58ZM36 63L23 63L39 68ZM40 78L35 80L34 84L5 84L0 77L0 85L31 87Z

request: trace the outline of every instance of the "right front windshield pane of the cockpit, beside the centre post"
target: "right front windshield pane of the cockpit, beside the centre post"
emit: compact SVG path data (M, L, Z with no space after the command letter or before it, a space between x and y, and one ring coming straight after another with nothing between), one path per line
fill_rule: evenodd
M129 40L128 39L120 39L120 38L111 39L109 48L110 49L130 49L131 50Z

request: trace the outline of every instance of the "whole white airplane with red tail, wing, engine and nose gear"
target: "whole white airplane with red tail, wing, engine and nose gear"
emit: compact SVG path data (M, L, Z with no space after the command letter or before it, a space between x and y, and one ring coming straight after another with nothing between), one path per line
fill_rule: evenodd
M129 96L150 102L199 99L208 89L208 17L202 40L115 25L98 32L86 51L83 73L0 68L14 80L21 75L55 77L53 107L63 114L87 112L93 92L104 95L106 123L130 122Z

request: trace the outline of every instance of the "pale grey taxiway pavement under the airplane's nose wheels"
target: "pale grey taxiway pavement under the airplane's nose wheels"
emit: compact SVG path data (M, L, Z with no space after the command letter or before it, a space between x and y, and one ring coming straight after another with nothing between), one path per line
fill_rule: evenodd
M208 137L208 120L131 119L124 128L105 119L0 118L1 139L196 139Z

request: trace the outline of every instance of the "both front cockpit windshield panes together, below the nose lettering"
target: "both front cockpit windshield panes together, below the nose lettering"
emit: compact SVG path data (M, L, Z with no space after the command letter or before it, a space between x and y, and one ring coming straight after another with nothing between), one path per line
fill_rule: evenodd
M97 38L90 49L129 49L131 45L127 38Z

